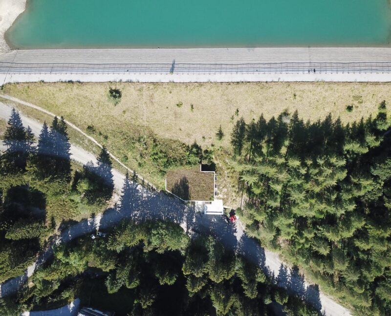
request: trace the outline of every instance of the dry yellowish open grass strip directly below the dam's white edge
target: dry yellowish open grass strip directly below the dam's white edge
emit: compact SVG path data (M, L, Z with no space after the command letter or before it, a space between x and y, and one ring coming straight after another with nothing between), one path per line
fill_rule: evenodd
M109 101L109 87L122 91L117 106ZM62 114L81 128L93 124L109 133L145 126L163 138L201 146L218 142L220 125L221 145L228 145L237 109L246 121L297 109L305 120L331 113L347 123L375 113L382 100L391 103L388 83L29 83L8 84L4 92ZM354 106L352 112L347 105Z

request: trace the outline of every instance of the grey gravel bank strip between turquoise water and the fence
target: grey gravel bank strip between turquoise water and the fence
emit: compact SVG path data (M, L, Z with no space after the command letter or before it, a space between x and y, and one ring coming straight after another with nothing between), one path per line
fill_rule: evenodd
M299 63L391 62L384 47L32 49L0 55L15 63Z

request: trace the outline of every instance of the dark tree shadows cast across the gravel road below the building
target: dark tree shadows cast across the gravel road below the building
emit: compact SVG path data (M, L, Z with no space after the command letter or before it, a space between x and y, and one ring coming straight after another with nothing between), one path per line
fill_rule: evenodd
M122 190L121 203L106 210L99 219L99 229L110 231L121 220L128 219L136 223L148 220L170 221L180 225L190 235L210 235L214 236L229 251L237 252L250 262L257 264L262 270L274 278L265 264L265 253L259 241L247 236L245 233L237 239L236 225L227 223L220 215L205 215L195 212L193 204L184 203L172 195L162 191L152 191L139 185L135 178L127 178ZM75 223L61 233L62 242L68 242L74 238L96 232L94 218L89 218ZM51 246L53 246L54 241ZM51 255L52 247L49 247L40 255L39 265L43 264ZM27 280L27 276L11 279L9 282L19 282L18 288ZM8 283L8 282L7 282ZM319 298L319 288L309 286L305 289L304 278L299 274L299 270L293 268L288 272L285 266L281 266L276 278L279 287L292 291L291 293L307 299L315 308L321 310L322 305ZM15 290L16 285L11 286ZM3 291L3 287L1 288ZM6 295L12 294L12 290ZM13 292L15 293L15 292Z

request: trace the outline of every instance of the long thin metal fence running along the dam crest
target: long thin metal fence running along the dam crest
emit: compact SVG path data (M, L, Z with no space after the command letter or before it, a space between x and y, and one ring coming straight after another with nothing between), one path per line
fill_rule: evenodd
M304 74L391 73L391 62L351 63L13 63L0 74Z

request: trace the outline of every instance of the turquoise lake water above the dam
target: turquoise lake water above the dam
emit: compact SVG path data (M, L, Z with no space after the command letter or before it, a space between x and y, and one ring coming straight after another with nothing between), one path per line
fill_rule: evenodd
M15 48L389 46L389 0L28 0Z

